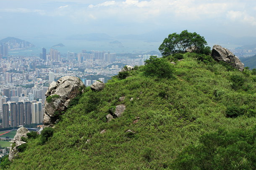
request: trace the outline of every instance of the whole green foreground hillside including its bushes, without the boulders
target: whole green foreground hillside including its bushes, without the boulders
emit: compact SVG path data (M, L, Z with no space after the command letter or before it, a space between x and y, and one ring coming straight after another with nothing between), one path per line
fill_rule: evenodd
M48 129L46 138L28 139L7 169L255 169L256 73L194 53L179 55L182 61L167 58L153 74L135 67L120 74L132 77L114 76L102 91L86 88L52 137ZM169 75L153 76L165 69ZM107 122L119 104L125 112ZM125 133L129 129L135 133Z

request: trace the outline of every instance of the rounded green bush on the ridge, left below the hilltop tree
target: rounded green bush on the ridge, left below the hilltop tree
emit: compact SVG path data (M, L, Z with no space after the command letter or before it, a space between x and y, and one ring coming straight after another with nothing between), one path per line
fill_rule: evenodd
M172 78L174 68L165 58L157 58L150 56L149 60L145 61L144 74L146 76L156 76L159 78Z

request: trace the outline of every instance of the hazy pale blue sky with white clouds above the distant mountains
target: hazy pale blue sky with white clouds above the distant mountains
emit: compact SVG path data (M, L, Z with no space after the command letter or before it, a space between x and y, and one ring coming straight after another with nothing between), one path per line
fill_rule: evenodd
M0 38L218 32L256 37L255 0L0 0Z

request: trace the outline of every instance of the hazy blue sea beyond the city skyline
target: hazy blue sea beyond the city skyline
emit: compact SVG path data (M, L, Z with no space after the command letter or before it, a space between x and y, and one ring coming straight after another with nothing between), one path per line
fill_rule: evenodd
M23 38L24 39L24 38ZM110 53L133 53L145 54L150 51L158 51L162 42L146 42L118 40L121 44L112 44L110 41L86 41L86 40L67 40L67 39L42 39L42 38L26 38L26 41L33 43L34 47L22 50L8 51L9 56L26 56L39 57L42 48L50 52L50 48L57 49L61 54L67 54L68 51L73 53L81 53L86 51L110 51ZM52 47L62 43L64 47ZM158 51L159 52L159 51Z

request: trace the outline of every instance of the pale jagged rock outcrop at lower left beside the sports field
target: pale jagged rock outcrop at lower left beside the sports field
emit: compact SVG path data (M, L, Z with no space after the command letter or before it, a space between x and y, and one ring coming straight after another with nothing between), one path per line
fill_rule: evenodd
M8 159L10 161L13 160L14 156L16 156L16 154L18 153L19 151L18 147L26 144L26 142L21 141L21 137L27 137L27 133L29 133L29 130L26 129L25 127L18 128L16 135L13 138L13 143L11 145L10 152L9 152Z

